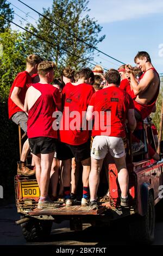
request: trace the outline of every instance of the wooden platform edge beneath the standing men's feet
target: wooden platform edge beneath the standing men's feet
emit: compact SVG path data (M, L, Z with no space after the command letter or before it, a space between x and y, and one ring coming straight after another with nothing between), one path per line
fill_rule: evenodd
M73 205L73 206L60 206L55 209L39 210L35 209L29 211L28 214L31 216L38 215L100 215L105 211L105 206L99 206L98 210L90 210L89 206Z

